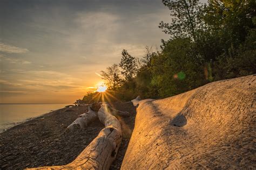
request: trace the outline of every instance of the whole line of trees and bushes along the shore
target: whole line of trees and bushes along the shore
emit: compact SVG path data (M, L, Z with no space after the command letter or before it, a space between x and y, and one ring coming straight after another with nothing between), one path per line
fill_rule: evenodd
M159 50L146 47L143 58L123 49L120 63L101 72L114 98L169 97L256 73L255 0L162 2L170 9L171 22L160 22L159 28L170 39L162 39ZM96 94L90 92L84 101Z

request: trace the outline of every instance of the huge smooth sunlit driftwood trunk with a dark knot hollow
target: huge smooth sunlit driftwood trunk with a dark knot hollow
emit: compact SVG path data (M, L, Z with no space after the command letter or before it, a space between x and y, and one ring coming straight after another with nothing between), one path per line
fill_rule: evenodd
M251 75L139 102L121 168L255 169L255 92Z

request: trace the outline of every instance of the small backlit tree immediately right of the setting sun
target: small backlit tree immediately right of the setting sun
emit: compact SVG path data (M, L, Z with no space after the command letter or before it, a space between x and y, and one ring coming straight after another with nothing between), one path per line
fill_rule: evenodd
M117 64L113 64L106 68L106 71L101 71L102 79L106 81L107 87L111 90L116 90L123 84L123 79L120 77L120 70Z

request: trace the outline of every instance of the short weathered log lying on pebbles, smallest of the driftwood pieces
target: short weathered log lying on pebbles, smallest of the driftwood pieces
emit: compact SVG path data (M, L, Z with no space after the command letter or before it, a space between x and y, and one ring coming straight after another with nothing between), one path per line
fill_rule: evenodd
M87 127L91 122L97 119L97 114L95 111L88 107L88 111L82 115L79 115L78 118L71 123L68 128L66 128L66 132L72 132L77 129L83 129Z

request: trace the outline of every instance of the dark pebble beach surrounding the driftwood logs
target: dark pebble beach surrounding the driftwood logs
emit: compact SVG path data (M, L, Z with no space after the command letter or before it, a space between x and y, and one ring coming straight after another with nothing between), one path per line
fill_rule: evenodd
M131 115L118 117L123 141L111 169L119 169L134 128L136 108L122 102L112 103L112 107L129 111ZM69 164L104 128L97 119L84 130L64 133L66 127L86 111L85 106L58 109L0 133L0 167L23 169Z

